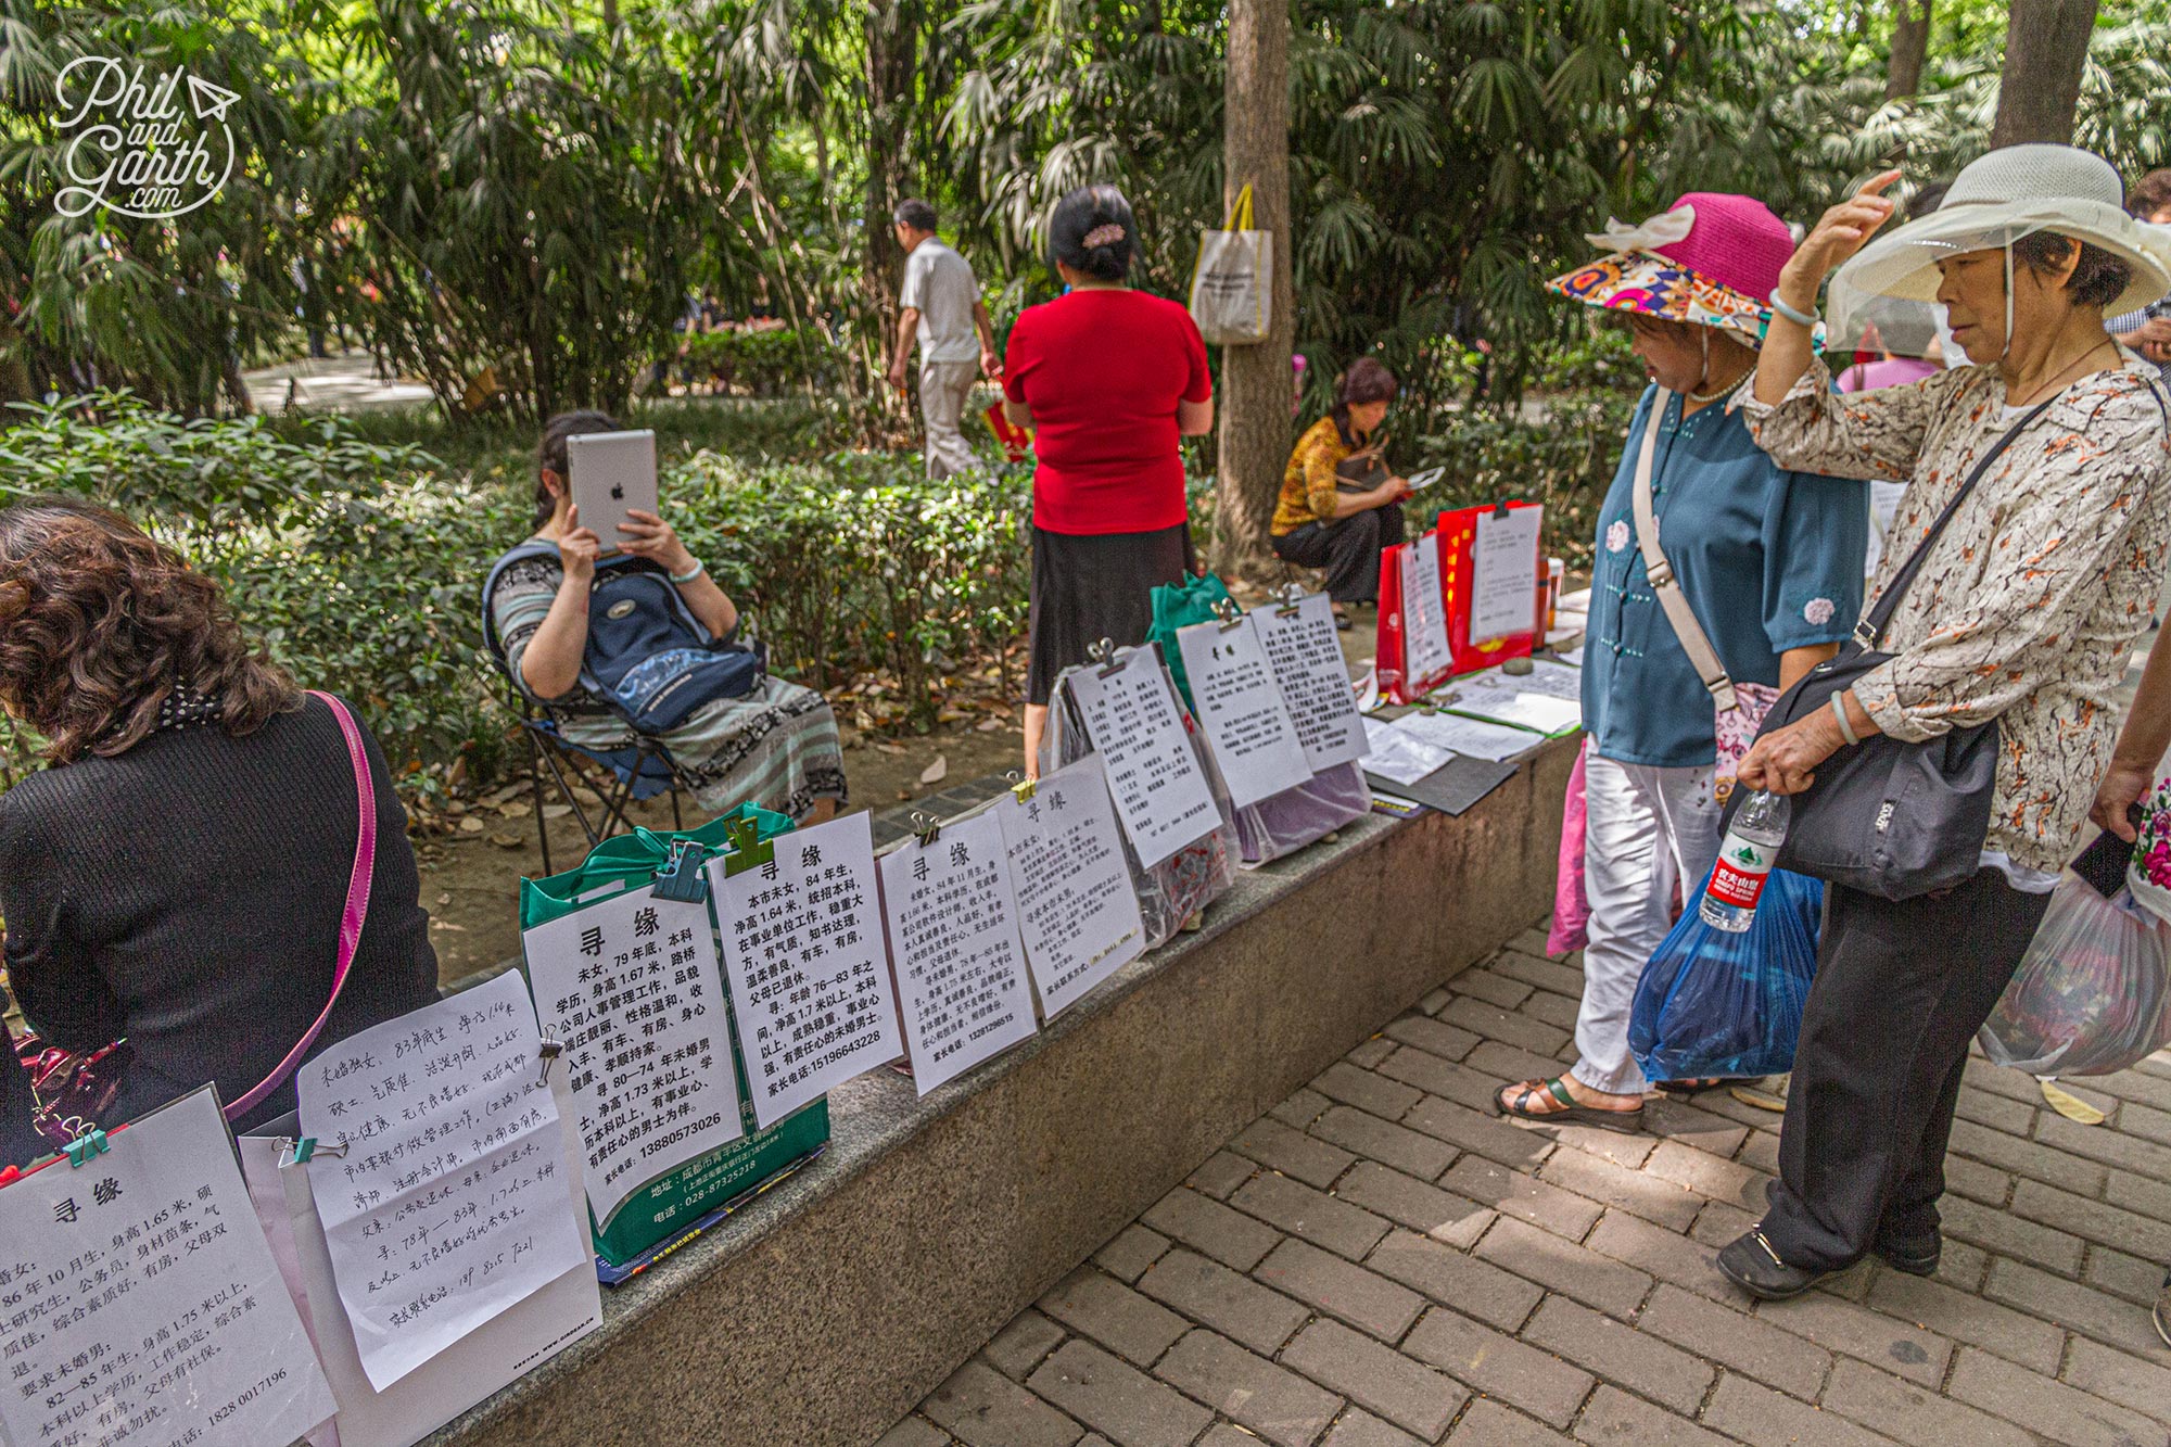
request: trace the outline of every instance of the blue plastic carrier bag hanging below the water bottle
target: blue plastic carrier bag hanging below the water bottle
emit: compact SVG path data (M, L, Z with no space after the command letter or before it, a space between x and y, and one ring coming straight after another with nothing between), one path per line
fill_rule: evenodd
M1791 1071L1817 978L1824 880L1774 869L1741 934L1706 926L1702 897L1691 897L1635 986L1635 1062L1648 1080Z

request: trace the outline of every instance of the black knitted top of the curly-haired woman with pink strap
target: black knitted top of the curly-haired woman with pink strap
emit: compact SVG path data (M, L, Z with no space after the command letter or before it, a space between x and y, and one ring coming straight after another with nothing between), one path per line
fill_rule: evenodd
M406 813L367 743L369 917L313 1054L436 999ZM67 1049L135 1045L102 1125L206 1080L241 1099L293 1049L332 991L358 828L347 743L315 697L243 739L161 728L0 793L0 917L24 1015ZM0 1102L13 1112L15 1091ZM293 1104L289 1082L237 1128ZM20 1121L0 1125L0 1145L20 1138Z

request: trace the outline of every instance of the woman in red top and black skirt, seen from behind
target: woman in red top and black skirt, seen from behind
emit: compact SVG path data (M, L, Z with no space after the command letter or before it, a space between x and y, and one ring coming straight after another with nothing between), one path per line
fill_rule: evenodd
M1081 187L1055 204L1049 250L1068 291L1010 328L1003 413L1033 428L1031 665L1025 773L1055 676L1099 639L1144 643L1153 587L1192 565L1181 437L1214 430L1207 343L1192 315L1131 291L1131 202Z

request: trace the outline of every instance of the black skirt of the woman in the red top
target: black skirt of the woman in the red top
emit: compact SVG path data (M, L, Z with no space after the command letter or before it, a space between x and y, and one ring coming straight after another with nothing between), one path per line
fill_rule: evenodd
M1153 532L1049 532L1036 526L1025 700L1046 704L1055 676L1086 663L1086 650L1101 639L1144 643L1153 626L1153 589L1181 582L1190 561L1185 524Z

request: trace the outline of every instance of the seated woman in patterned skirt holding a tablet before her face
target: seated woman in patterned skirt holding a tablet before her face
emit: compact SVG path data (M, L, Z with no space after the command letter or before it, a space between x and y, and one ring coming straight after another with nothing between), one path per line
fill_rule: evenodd
M573 506L564 441L617 430L606 413L560 413L545 424L536 450L536 532L523 543L530 556L502 563L484 600L515 684L551 713L567 743L591 752L623 750L634 732L580 682L588 591L604 541ZM710 639L725 643L738 632L738 608L669 521L636 511L619 532L627 563L662 569ZM556 556L532 543L549 543ZM710 813L753 802L799 821L823 821L845 802L836 715L821 693L779 678L758 676L749 693L712 697L653 739L671 754L677 782Z

